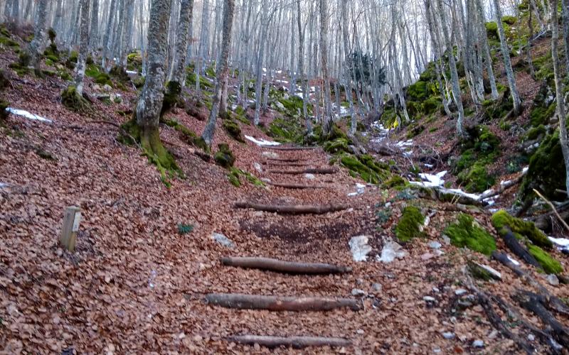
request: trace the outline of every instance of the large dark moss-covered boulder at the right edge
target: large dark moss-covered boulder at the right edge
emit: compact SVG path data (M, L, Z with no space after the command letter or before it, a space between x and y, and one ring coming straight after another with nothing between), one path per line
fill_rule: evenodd
M565 190L565 165L559 140L559 130L546 136L529 159L529 168L520 186L522 200L533 198L533 189L538 189L553 199L555 190Z

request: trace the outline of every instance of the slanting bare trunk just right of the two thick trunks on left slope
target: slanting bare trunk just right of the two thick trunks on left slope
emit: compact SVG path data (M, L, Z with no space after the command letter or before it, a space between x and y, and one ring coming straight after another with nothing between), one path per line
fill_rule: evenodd
M213 141L213 133L216 132L216 121L219 111L219 103L222 94L223 82L227 79L229 72L228 60L229 60L229 47L231 45L231 28L233 27L233 11L235 9L235 0L225 0L225 6L223 6L223 40L221 42L221 56L218 65L216 91L213 94L213 104L211 107L211 112L208 119L208 124L206 128L203 129L201 138L206 142L208 146L211 146L211 141Z

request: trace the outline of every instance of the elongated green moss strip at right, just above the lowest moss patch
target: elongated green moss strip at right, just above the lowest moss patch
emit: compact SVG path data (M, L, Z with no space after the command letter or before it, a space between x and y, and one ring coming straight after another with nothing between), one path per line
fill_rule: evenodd
M553 244L548 237L540 231L533 222L526 222L523 219L512 217L503 209L494 213L491 218L492 225L501 236L508 231L512 231L518 238L526 237L536 246L551 248Z

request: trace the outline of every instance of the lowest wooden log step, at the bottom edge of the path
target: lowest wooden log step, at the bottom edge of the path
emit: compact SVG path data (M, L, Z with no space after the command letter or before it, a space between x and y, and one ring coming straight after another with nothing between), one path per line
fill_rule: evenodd
M270 337L263 335L235 335L226 338L229 342L266 346L267 348L277 348L279 346L292 346L296 349L308 346L350 346L351 341L344 338L327 337Z

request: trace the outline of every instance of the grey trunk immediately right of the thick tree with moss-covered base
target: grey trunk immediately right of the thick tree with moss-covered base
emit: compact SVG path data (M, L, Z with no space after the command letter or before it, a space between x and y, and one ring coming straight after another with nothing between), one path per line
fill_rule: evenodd
M172 65L170 81L178 82L182 87L186 84L185 65L188 54L188 33L193 18L193 0L182 0L180 5L180 21L176 37L176 53L174 65Z

